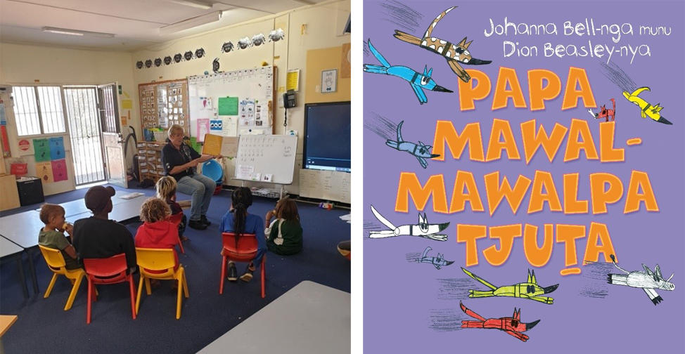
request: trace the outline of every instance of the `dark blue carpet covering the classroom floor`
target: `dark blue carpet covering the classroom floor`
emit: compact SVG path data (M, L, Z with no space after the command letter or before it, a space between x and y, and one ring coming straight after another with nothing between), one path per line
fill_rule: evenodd
M117 195L154 194L153 188L116 189ZM70 202L82 198L85 192L84 189L52 195L46 197L46 202ZM186 195L178 197L188 199ZM93 303L92 322L86 325L86 282L81 284L71 310L64 311L71 285L60 276L50 297L43 299L52 273L37 250L31 253L38 275L38 295L33 294L24 257L31 296L28 300L21 291L16 262L4 261L0 267L0 312L19 316L2 338L6 353L196 353L303 280L350 292L350 261L340 256L336 249L338 242L350 240L350 224L339 218L349 211L326 211L313 204L298 202L305 230L304 249L293 256L267 253L266 299L260 296L258 272L249 283L226 281L224 294L219 295L222 241L218 227L230 200L229 190L215 195L207 213L212 225L203 231L186 230L191 240L184 242L186 254L179 253L179 260L186 269L190 297L183 300L180 320L175 317L176 292L172 290L172 282L162 281L162 287L153 290L151 296L143 291L136 320L131 317L127 284L98 287L100 295ZM274 203L274 199L255 197L249 211L263 218L269 209L273 209ZM39 204L23 206L4 212L3 216L38 207ZM188 215L189 210L185 213ZM127 228L135 235L139 225L140 222L130 223ZM238 273L244 268L244 264L238 264ZM137 275L134 280L137 287ZM264 340L268 338L264 334Z

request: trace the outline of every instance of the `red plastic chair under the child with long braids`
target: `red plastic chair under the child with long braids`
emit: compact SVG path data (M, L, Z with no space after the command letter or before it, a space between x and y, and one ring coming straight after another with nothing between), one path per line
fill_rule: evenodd
M226 279L226 265L228 261L234 262L249 262L255 259L259 244L257 243L257 236L252 234L243 234L238 240L238 247L236 247L236 234L233 232L222 233L224 242L224 261L222 261L222 280L219 284L219 294L224 294L224 280ZM264 289L264 284L267 280L267 255L262 258L262 299L267 296L267 291Z

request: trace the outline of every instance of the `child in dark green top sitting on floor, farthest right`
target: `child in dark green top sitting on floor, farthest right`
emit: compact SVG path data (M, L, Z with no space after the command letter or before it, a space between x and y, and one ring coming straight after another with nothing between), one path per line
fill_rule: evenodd
M276 217L273 223L271 218ZM264 230L267 235L267 248L275 254L286 256L302 251L302 225L297 204L285 197L276 203L276 209L269 210L266 216L269 227Z

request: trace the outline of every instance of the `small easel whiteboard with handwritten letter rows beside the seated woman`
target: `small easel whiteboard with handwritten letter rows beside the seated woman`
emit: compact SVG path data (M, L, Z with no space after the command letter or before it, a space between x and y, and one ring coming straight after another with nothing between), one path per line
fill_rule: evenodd
M235 177L243 181L293 183L297 136L241 136Z

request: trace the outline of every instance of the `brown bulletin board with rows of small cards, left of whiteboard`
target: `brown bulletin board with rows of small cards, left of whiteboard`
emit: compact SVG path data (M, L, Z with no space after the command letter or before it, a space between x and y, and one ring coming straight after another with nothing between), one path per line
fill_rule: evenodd
M149 129L167 130L179 124L188 132L188 80L149 82L138 85L141 105L141 129L146 140L152 136Z

